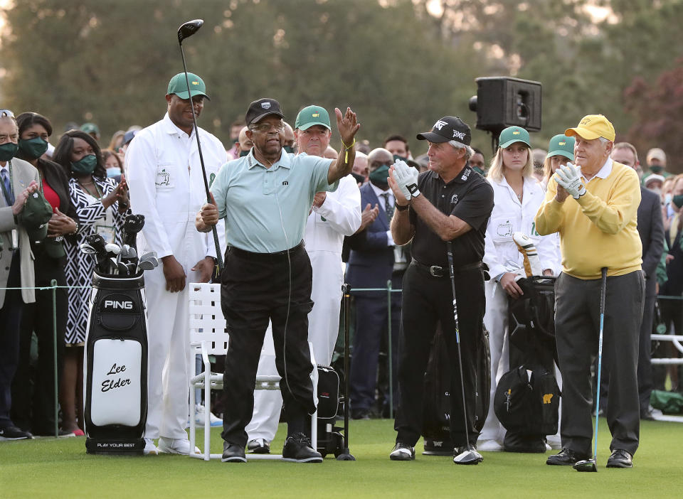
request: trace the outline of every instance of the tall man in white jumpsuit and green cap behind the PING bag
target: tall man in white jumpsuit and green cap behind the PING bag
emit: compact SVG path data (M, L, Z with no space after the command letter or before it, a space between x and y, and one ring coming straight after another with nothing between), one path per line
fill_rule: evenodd
M203 173L192 121L201 114L206 86L188 73L171 78L164 118L137 133L126 152L127 181L134 213L144 215L138 254L155 251L159 267L145 272L148 314L148 402L145 454L189 454L185 426L189 413L189 377L194 359L189 353L186 283L208 282L216 261L211 232L194 228L194 218L206 203ZM215 136L198 129L209 178L226 163L226 149ZM217 227L225 247L223 222ZM222 253L222 250L221 250Z

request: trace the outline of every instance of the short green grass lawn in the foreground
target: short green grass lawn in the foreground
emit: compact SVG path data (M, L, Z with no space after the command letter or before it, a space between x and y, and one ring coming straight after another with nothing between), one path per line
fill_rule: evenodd
M683 424L642 422L628 470L605 468L605 422L600 429L598 473L546 466L548 454L484 452L478 466L457 466L449 457L419 454L421 441L415 461L389 461L396 434L387 419L352 422L357 461L328 457L322 464L90 456L83 437L0 442L0 498L683 498ZM277 453L283 434L281 425ZM213 452L221 451L220 429L211 439Z

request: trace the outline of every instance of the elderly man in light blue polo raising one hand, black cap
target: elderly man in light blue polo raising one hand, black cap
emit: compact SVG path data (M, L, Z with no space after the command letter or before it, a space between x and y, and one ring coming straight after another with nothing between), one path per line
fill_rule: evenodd
M282 377L289 461L322 462L305 434L315 411L309 357L308 313L312 271L303 245L315 193L334 191L354 164L354 137L360 127L350 108L337 127L342 149L337 160L282 153L285 117L274 99L252 102L245 116L254 143L247 156L230 161L211 186L214 204L197 214L196 227L208 232L226 218L228 252L221 281L221 307L230 331L226 355L223 461L245 462L245 426L253 412L258 359L268 321L272 323L275 365Z

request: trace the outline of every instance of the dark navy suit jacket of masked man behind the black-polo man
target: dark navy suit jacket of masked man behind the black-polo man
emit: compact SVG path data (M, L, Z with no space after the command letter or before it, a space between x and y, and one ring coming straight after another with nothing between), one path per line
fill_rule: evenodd
M361 206L370 203L384 205L378 200L370 183L361 187ZM384 287L393 272L393 246L387 245L386 231L389 220L380 208L379 215L365 230L349 237L351 254L346 272L346 282L352 288Z

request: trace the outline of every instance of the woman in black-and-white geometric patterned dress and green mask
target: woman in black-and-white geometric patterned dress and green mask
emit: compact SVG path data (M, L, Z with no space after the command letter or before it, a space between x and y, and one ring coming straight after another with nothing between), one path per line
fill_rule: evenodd
M125 183L107 178L102 153L97 141L80 130L69 130L55 147L53 160L69 177L71 202L78 213L78 233L67 241L66 281L69 309L66 325L64 367L60 404L62 428L83 434L83 347L88 323L88 297L95 261L80 253L85 237L100 234L107 242L121 245L124 215L128 209ZM77 403L78 398L78 403ZM77 422L78 411L78 422Z

